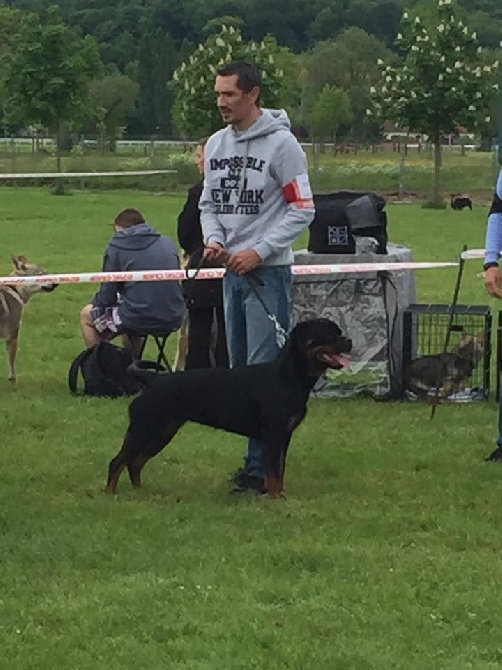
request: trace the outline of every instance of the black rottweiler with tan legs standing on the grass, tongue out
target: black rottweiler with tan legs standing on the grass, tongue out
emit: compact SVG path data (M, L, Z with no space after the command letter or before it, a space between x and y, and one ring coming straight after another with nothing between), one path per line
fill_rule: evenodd
M132 485L141 486L145 463L185 421L195 421L263 440L265 491L278 496L289 442L307 413L309 393L328 368L348 365L343 354L351 348L336 323L313 319L293 328L271 363L157 375L133 364L131 374L146 388L129 406L129 427L122 449L110 461L106 492L116 492L124 467Z

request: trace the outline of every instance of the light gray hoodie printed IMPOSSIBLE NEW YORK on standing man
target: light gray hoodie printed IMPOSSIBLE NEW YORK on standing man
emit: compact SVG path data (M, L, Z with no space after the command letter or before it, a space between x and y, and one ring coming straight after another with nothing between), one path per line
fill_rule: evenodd
M205 147L200 199L206 243L255 249L262 265L291 265L291 246L314 218L305 153L284 110L263 109L247 130L227 126Z

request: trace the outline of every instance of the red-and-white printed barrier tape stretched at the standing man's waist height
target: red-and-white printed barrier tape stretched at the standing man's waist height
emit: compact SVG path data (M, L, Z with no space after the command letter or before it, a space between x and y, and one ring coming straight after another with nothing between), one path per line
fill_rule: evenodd
M294 265L294 275L353 274L366 272L398 272L402 270L424 270L428 268L456 267L457 263L346 263L339 265ZM196 270L189 271L189 277ZM204 268L196 279L219 279L225 275L225 268ZM0 286L26 284L101 284L131 281L180 281L186 279L184 270L136 270L134 272L78 272L71 274L47 274L34 276L13 275L0 277Z

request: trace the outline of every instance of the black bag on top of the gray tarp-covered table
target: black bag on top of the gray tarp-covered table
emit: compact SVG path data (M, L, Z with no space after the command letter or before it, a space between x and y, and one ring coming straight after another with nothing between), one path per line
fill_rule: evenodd
M308 250L315 254L355 254L356 237L372 237L377 254L387 253L385 198L362 191L314 194L316 213Z

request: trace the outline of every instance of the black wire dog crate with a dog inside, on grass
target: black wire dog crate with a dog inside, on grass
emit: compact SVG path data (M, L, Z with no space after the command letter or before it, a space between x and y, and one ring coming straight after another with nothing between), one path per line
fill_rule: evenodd
M456 305L451 322L448 372L441 354L450 323L450 305L410 305L403 314L403 395L435 394L439 374L446 383L443 399L450 402L485 400L490 392L492 315L486 305ZM502 317L499 347L502 352ZM476 338L476 342L473 342ZM420 363L412 361L422 359ZM467 371L467 376L466 376ZM451 376L450 376L451 373ZM450 378L448 379L448 377ZM431 384L431 379L435 381ZM417 393L417 387L422 393Z

